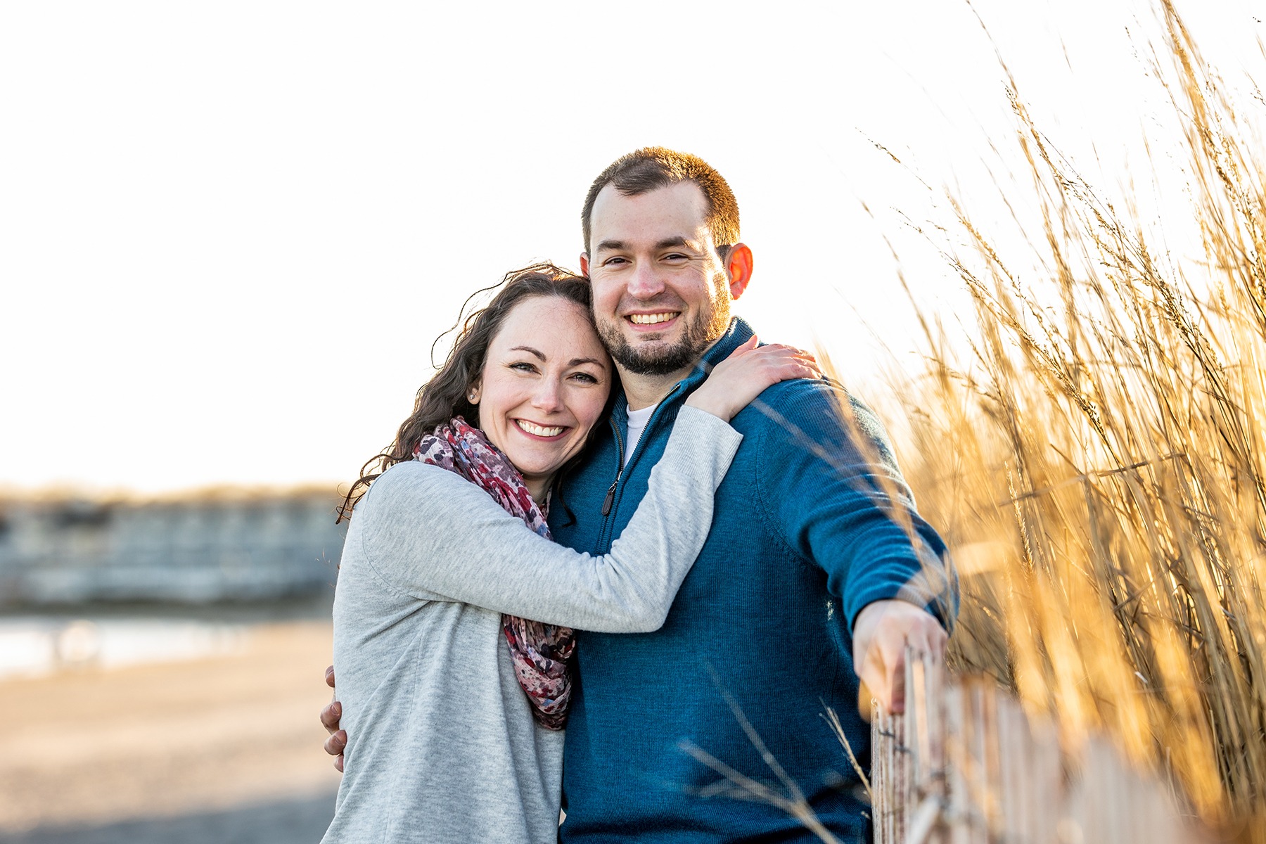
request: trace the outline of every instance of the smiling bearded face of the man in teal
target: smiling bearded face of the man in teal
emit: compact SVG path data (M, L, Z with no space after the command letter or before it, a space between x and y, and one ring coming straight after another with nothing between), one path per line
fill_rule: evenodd
M687 369L729 326L729 276L706 209L689 181L637 196L613 185L599 192L581 266L594 289L598 333L623 369Z

